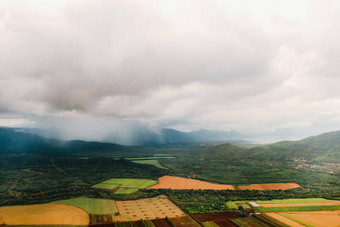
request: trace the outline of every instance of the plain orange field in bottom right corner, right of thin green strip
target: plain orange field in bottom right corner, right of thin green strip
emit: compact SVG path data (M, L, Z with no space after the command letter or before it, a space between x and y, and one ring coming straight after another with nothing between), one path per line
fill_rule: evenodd
M318 227L340 226L340 210L287 212L287 214Z

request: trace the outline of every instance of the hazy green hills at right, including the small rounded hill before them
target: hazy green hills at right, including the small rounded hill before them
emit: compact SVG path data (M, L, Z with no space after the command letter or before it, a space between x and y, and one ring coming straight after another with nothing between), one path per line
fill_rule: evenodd
M254 159L282 163L287 161L340 163L340 131L250 149L227 143L207 148L202 152L209 158L225 161Z

